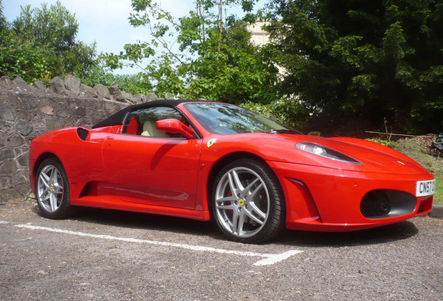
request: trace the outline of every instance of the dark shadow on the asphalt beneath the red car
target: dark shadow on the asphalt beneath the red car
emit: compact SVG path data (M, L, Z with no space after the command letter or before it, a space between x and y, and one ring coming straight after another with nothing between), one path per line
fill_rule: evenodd
M34 213L40 215L35 206ZM118 226L130 229L169 231L172 233L208 236L215 240L226 240L213 222L201 222L180 217L132 213L118 210L78 208L72 220ZM405 221L373 229L352 232L314 232L283 231L277 238L265 244L286 245L291 247L350 247L358 245L377 245L404 240L417 235L419 230L414 223Z

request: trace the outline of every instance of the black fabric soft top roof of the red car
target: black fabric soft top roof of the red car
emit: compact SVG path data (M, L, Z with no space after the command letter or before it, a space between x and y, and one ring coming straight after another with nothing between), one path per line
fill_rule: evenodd
M195 102L201 100L153 100L150 102L144 102L140 105L131 105L129 107L125 107L121 111L118 111L116 114L109 116L104 119L104 121L100 121L99 123L93 125L92 128L103 128L112 125L122 125L124 118L129 111L134 111L136 109L147 109L150 107L177 107L182 102Z

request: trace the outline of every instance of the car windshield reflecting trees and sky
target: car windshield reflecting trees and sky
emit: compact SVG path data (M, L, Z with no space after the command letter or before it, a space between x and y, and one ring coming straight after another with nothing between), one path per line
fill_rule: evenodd
M299 133L254 111L235 105L197 102L187 103L185 107L206 130L213 134L251 132Z

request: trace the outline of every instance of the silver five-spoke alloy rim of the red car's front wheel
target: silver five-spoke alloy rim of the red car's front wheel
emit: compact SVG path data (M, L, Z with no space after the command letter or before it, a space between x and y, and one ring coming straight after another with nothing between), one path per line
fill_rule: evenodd
M226 231L240 238L254 236L269 216L270 196L265 182L247 167L229 169L217 183L215 210Z

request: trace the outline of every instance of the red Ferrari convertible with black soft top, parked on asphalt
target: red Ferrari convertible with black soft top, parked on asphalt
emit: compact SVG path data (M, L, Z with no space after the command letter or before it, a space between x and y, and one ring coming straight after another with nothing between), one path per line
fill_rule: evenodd
M258 243L287 229L355 231L430 212L435 180L414 160L361 139L301 134L235 105L156 100L91 129L32 140L42 215L73 206L208 221Z

